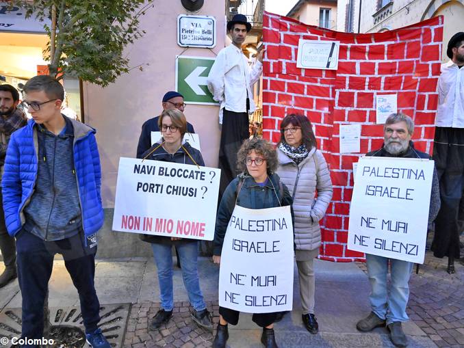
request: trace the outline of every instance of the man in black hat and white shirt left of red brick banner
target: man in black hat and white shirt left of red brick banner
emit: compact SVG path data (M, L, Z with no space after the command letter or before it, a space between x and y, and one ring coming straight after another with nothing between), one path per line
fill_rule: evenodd
M218 168L221 170L220 196L237 176L237 152L248 133L248 113L255 111L251 86L259 80L263 70L263 51L257 55L253 67L248 66L242 44L251 25L243 14L235 14L227 23L232 44L222 49L211 67L207 79L209 91L220 103L219 123L222 132Z

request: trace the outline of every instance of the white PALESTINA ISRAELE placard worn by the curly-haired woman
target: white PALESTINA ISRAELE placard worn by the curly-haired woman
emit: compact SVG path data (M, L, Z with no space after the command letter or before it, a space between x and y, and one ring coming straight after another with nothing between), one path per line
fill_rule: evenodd
M219 306L248 313L292 310L294 243L290 206L235 206L219 271Z

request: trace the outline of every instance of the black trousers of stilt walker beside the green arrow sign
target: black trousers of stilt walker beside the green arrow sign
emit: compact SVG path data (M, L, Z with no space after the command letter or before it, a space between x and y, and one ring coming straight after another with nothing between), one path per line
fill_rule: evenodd
M218 161L218 168L221 170L219 201L229 183L238 174L237 152L249 137L248 113L224 109Z

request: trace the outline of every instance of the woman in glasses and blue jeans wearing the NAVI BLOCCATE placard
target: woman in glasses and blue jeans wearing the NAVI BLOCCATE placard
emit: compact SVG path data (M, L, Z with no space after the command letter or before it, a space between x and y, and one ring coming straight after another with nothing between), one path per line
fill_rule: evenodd
M187 120L182 111L178 109L164 110L158 120L162 138L142 155L142 159L184 163L204 166L201 153L183 141L187 131ZM185 290L188 293L190 304L194 308L192 319L201 327L213 330L211 314L209 314L203 293L198 281L198 241L196 239L181 239L177 237L162 237L141 235L142 241L151 243L153 256L158 272L159 299L161 309L155 314L150 329L155 330L167 323L172 317L174 295L172 291L172 245L179 252L182 265L182 276Z

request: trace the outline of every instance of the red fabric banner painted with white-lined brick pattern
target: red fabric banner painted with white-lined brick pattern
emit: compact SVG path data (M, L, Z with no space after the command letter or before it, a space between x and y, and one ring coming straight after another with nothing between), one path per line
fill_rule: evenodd
M338 69L297 68L300 39L339 41ZM348 34L265 12L263 136L279 142L282 118L304 113L331 170L333 199L320 223L320 258L363 259L346 248L352 163L383 144L383 125L376 124L377 94L398 94L398 111L415 122L415 147L432 153L442 40L442 16L382 33ZM359 154L340 154L340 124L361 124Z

